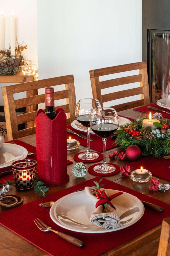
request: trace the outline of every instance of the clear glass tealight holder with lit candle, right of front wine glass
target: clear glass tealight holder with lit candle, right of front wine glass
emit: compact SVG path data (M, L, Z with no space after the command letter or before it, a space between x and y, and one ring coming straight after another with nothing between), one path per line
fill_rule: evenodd
M140 169L134 170L130 174L130 178L135 182L148 182L152 178L152 174L141 167Z

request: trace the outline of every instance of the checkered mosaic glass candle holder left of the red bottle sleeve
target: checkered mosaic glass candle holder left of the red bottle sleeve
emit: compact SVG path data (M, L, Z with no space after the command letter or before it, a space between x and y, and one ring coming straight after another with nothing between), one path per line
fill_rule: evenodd
M19 190L33 188L35 182L37 162L32 159L15 161L12 164L15 187Z

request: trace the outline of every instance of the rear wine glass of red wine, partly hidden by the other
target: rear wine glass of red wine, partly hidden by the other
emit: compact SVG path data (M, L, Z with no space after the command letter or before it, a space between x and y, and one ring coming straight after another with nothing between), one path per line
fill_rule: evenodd
M90 151L90 117L93 110L98 107L101 107L101 105L96 99L81 99L77 102L75 108L76 120L87 129L87 151L79 154L79 158L82 160L92 160L99 157L97 153L91 153Z

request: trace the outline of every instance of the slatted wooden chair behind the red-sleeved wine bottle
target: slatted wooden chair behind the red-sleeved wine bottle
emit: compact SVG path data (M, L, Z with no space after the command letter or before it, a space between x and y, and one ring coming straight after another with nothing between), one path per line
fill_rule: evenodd
M54 93L54 100L66 99L67 104L62 105L64 111L68 113L67 124L70 124L75 120L74 110L76 106L75 89L74 89L74 77L73 75L55 77L50 79L26 82L15 84L11 86L2 87L2 95L4 101L5 120L7 127L8 140L14 140L23 136L35 134L34 120L37 111L32 111L25 114L16 115L16 109L23 108L25 106L33 106L34 104L44 103L45 94L30 96L27 98L14 100L14 93L24 91L35 91L40 88L49 86L58 86L65 84L66 90L58 91ZM59 107L59 106L58 106ZM57 109L58 107L55 107ZM31 123L32 127L18 131L18 124ZM30 125L29 125L30 126Z

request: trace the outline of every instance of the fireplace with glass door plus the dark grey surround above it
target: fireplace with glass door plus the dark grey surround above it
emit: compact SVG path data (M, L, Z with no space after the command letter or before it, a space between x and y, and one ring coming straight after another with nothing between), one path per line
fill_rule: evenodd
M142 60L147 61L151 102L170 93L170 1L142 0Z

